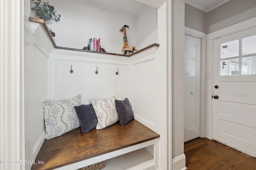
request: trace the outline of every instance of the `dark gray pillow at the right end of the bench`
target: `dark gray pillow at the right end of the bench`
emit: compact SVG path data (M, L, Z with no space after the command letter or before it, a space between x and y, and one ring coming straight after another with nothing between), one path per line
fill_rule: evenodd
M115 100L115 104L118 119L122 126L134 119L134 113L128 98L125 98L124 100Z

